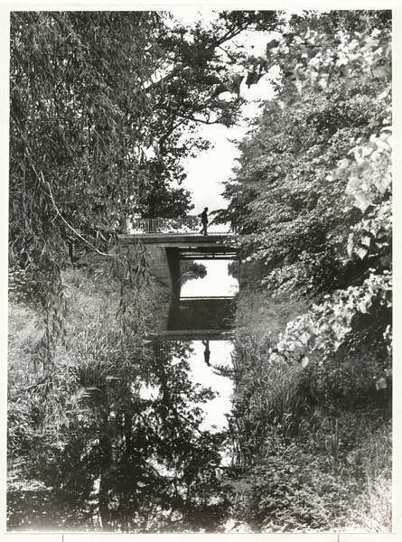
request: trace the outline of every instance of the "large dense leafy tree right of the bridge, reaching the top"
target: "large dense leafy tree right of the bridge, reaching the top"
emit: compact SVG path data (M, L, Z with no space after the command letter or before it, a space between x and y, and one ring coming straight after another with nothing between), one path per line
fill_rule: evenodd
M239 145L226 215L243 234L244 256L272 272L267 284L327 293L347 285L358 267L360 280L368 277L374 254L361 266L345 248L362 213L376 203L373 212L381 213L389 197L388 30L376 38L308 30L303 38L294 33L275 47L268 44L267 51L271 63L281 62L283 78L278 97L266 103L259 125ZM364 56L356 60L357 52ZM346 157L352 152L354 164ZM379 263L386 263L384 250Z

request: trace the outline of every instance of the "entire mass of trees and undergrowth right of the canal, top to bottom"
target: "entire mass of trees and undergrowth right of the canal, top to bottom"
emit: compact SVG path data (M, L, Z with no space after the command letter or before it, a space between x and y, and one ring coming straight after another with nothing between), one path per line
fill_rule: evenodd
M276 97L226 187L259 274L238 309L231 418L239 513L258 531L391 528L390 21L377 15L294 18L268 44Z

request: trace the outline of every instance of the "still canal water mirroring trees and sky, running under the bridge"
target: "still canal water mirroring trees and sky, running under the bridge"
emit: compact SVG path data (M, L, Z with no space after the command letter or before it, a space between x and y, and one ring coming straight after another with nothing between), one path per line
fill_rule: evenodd
M228 263L205 261L206 275L185 281L181 301L204 300L208 308L208 300L219 298L231 309L238 285L229 276ZM231 461L221 432L228 426L233 392L227 376L232 351L228 315L224 320L219 335L222 330L209 332L204 323L202 335L179 339L179 346L173 338L145 341L152 348L140 360L145 375L141 389L134 366L128 363L122 372L112 368L104 386L99 380L84 390L82 416L75 425L61 427L55 444L45 433L35 433L36 459L9 464L7 530L153 533L219 528L229 490L220 483L217 465L227 467ZM188 378L217 396L192 403L191 397L201 396L187 385ZM197 408L204 413L203 425L197 426Z

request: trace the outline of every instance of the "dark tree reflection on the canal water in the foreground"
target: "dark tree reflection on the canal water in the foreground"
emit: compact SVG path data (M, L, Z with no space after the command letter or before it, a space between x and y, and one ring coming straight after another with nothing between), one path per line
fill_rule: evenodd
M77 339L66 408L25 463L27 478L52 488L51 528L216 530L227 508L215 473L224 437L200 429L199 405L215 394L188 376L191 343L112 339ZM50 412L54 397L43 399ZM26 507L13 495L9 505Z

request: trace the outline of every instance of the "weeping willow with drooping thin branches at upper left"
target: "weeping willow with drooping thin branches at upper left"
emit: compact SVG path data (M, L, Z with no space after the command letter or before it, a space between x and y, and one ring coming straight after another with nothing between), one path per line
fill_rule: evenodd
M42 291L65 241L105 250L139 190L160 23L145 12L11 16L10 261Z

